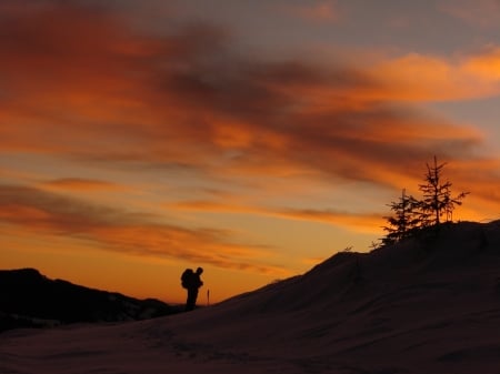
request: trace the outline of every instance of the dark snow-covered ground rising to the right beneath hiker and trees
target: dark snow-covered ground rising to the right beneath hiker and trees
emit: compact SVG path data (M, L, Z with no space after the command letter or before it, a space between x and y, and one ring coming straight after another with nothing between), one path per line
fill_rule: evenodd
M210 307L0 334L1 374L500 373L500 222L460 223Z

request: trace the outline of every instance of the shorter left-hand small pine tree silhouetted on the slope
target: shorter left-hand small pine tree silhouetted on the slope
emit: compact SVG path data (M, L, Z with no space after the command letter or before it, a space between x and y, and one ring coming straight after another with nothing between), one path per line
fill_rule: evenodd
M382 244L399 242L401 239L409 236L421 224L420 212L418 211L420 202L412 195L408 195L404 189L399 201L391 202L388 206L394 212L394 215L384 216L389 226L383 226L388 234L382 239Z

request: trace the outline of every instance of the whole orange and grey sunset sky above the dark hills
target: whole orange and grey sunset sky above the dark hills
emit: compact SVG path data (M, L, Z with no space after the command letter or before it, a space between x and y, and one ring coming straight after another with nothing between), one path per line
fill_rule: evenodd
M498 219L499 100L498 0L3 0L0 267L218 302L370 251L434 155Z

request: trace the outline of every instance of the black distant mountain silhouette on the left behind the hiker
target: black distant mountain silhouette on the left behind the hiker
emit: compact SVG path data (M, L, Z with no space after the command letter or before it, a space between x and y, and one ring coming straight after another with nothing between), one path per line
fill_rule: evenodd
M69 323L136 321L173 314L179 306L50 280L34 269L0 271L0 332Z

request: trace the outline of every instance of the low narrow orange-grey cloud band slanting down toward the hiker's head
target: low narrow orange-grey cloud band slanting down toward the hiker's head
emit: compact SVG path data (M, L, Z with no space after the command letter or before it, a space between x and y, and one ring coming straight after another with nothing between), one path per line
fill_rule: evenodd
M266 263L270 249L239 244L230 231L186 229L158 216L97 205L27 186L0 185L0 222L32 235L64 235L96 246L140 256L198 261L227 269L282 273Z

